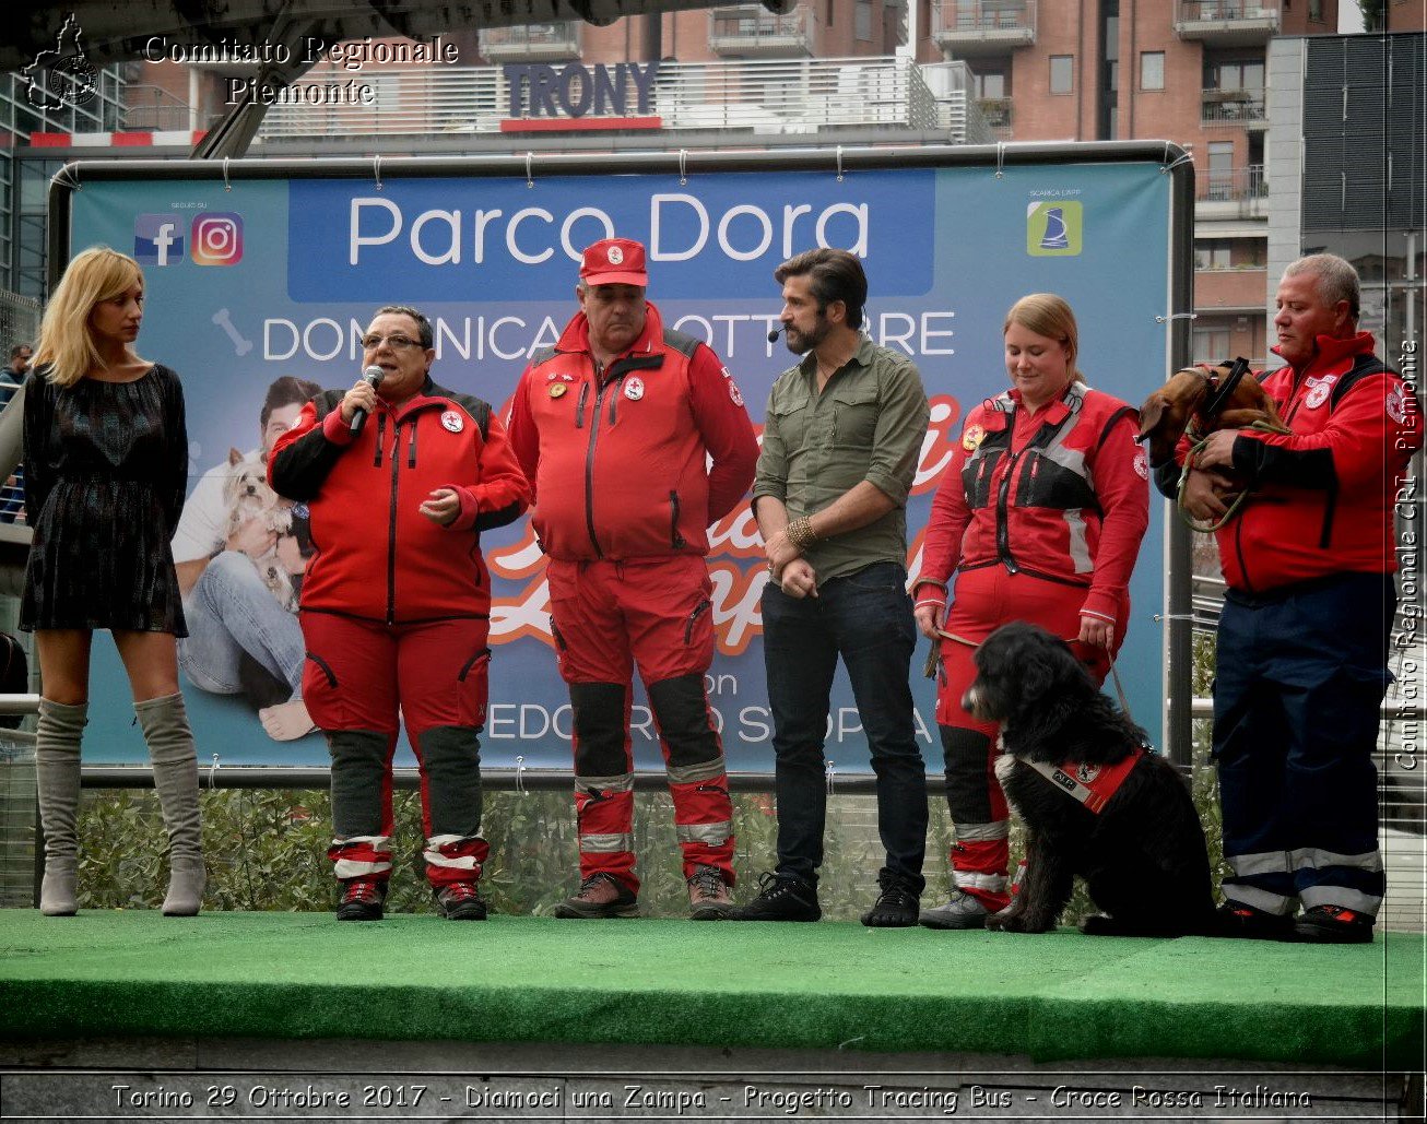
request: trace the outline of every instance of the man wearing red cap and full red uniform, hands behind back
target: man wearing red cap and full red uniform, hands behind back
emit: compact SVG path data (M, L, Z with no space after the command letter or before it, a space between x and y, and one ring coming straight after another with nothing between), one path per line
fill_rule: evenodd
M706 528L742 499L758 441L706 345L645 301L645 251L584 252L579 314L537 354L509 436L549 556L551 630L574 709L579 891L557 917L634 917L632 666L659 729L691 916L732 909L733 822L704 673L714 659ZM706 468L712 459L712 466Z

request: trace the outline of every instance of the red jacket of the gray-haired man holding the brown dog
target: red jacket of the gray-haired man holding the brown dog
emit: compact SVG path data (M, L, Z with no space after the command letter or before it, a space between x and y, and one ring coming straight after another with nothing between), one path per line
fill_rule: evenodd
M1320 335L1304 368L1280 367L1263 388L1293 432L1244 429L1234 439L1234 469L1253 492L1216 532L1224 581L1251 593L1333 573L1393 573L1396 489L1423 428L1411 391L1374 358L1373 334Z

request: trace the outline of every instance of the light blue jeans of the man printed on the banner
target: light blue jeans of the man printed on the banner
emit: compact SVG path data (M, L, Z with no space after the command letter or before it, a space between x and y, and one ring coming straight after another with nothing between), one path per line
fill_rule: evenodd
M303 629L273 596L253 559L224 551L198 576L184 603L188 636L178 642L178 666L213 695L241 695L240 658L247 652L275 679L303 695Z

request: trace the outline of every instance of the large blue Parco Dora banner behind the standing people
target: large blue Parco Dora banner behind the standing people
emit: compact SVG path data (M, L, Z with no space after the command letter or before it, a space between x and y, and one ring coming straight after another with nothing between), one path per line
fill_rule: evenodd
M261 475L264 445L287 417L280 411L261 425L268 388L284 377L350 387L361 374L360 338L380 305L421 308L435 327L432 377L504 417L529 357L554 344L577 311L581 250L611 235L638 238L648 247L649 300L666 325L718 352L761 431L768 391L796 358L768 338L782 308L773 268L818 245L852 250L870 282L866 331L916 362L930 399L908 505L915 573L932 494L963 417L1007 387L1002 322L1019 297L1052 291L1070 301L1090 385L1137 405L1164 378L1173 177L1160 161L1097 161L1075 148L1066 145L1063 163L865 167L841 175L831 165L605 174L592 157L588 168L528 180L465 174L457 160L448 174L388 171L380 183L371 174L318 174L321 161L311 161L311 174L284 165L281 174L230 183L215 174L118 175L96 163L83 167L83 190L70 197L70 248L101 242L138 258L147 281L138 351L183 378L191 456L176 541L181 575L184 559L213 565L253 518L240 509L233 481ZM1119 668L1136 720L1159 737L1164 528L1162 505L1152 512ZM253 561L264 566L271 601L220 606L231 609L233 626L214 623L224 612L201 619L190 612L184 692L201 765L214 756L223 766L328 763L318 735L291 736L305 730L288 699L303 659L293 612L291 572L303 565L301 511L297 516L283 523L294 526L293 542ZM711 541L709 703L729 769L771 773L759 619L768 573L748 505L719 521ZM529 519L485 533L481 546L494 592L482 762L567 769L571 709ZM920 676L920 643L912 669L918 736L929 770L939 772L935 690ZM128 686L108 645L96 645L94 663L86 762L140 763ZM638 686L632 722L636 766L662 770ZM869 770L842 670L826 756L836 773ZM401 763L411 763L405 745Z

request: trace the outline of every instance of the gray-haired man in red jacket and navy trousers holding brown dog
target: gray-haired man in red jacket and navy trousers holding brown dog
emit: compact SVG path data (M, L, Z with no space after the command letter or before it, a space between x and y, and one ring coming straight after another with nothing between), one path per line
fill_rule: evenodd
M1289 265L1277 308L1274 351L1287 365L1263 387L1291 432L1213 434L1186 481L1199 519L1226 514L1224 471L1251 489L1217 532L1229 591L1214 757L1233 867L1220 931L1370 941L1386 887L1373 750L1391 679L1393 509L1421 446L1421 412L1357 329L1347 261L1313 254ZM1179 469L1166 468L1159 485L1173 495Z

